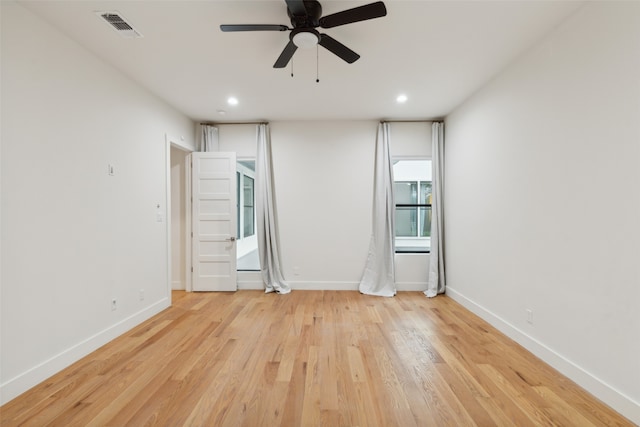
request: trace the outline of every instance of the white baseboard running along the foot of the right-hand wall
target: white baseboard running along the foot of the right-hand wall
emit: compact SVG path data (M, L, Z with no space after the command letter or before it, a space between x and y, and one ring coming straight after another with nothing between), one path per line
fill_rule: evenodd
M567 376L589 393L611 406L614 410L634 423L640 425L640 403L635 402L629 396L616 390L571 360L547 347L544 343L529 336L522 330L513 326L507 320L475 303L455 289L447 286L446 294L469 311L489 322L500 332L529 350L545 363L560 371L563 375Z

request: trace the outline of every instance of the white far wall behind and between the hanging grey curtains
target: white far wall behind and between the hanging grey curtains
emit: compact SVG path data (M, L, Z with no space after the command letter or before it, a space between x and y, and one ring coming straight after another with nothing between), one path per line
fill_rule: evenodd
M282 267L294 289L357 289L371 235L375 121L271 123ZM219 125L220 150L255 158L255 125ZM392 155L430 157L429 123L394 123ZM399 290L426 288L427 254L398 254ZM241 289L260 287L239 273Z

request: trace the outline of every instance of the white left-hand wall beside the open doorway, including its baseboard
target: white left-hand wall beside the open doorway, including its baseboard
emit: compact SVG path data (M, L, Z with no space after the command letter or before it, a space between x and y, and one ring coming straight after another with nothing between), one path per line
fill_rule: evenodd
M1 7L6 402L169 305L165 135L195 135L22 6Z

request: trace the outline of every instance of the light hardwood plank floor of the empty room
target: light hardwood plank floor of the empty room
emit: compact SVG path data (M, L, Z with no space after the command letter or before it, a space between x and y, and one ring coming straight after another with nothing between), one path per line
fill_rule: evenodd
M1 425L632 425L445 296L173 302L4 405Z

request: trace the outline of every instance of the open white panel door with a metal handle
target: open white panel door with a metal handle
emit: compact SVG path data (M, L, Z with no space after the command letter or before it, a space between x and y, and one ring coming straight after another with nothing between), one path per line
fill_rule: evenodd
M236 153L192 153L194 291L235 291Z

